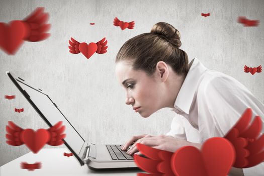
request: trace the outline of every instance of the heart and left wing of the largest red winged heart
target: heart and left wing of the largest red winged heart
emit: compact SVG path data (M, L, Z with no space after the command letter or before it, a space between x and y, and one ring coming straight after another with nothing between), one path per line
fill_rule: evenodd
M160 176L224 176L235 158L233 145L221 137L208 139L201 151L193 146L185 146L172 153L140 143L137 148L150 159L134 155L136 164L144 171Z

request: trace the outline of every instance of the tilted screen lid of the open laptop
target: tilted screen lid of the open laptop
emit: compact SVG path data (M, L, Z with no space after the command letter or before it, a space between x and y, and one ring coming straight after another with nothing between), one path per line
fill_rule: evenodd
M49 98L47 94L44 94L41 89L34 88L27 84L24 79L16 77L9 71L6 72L12 82L16 85L19 91L24 95L32 107L37 111L40 117L52 127L57 122L62 121L62 125L65 125L66 137L63 139L66 147L73 153L81 165L84 165L81 159L83 153L83 146L85 147L85 141L75 128L70 124L66 117L58 109L57 105Z

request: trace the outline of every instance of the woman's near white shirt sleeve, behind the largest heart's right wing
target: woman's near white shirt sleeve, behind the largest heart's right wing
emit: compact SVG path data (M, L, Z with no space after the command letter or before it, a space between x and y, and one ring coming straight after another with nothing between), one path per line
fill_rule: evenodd
M208 107L209 117L214 122L211 128L219 130L224 136L238 121L246 108L252 109L252 119L259 115L262 120L262 131L264 133L264 105L258 101L250 91L239 81L232 77L215 77L204 89L204 106ZM213 127L215 126L215 127ZM212 136L213 137L213 136ZM263 175L264 163L243 168L245 176Z

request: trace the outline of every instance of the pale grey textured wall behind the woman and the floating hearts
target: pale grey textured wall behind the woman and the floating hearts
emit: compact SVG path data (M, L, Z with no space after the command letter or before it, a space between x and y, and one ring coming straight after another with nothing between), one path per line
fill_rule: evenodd
M89 142L124 143L132 135L166 133L174 116L162 109L144 119L125 102L115 77L115 56L133 36L149 32L160 21L177 28L189 59L233 76L264 103L263 73L243 72L243 66L264 66L264 1L0 1L0 22L22 20L37 7L50 15L51 37L25 42L16 55L0 51L0 149L3 165L27 152L25 146L6 144L5 126L12 120L22 128L47 128L39 115L7 77L20 75L48 93L73 126ZM211 13L201 17L201 13ZM258 27L243 27L238 16L260 20ZM113 19L135 21L133 30L113 26ZM94 26L90 23L96 23ZM68 51L70 37L96 42L106 37L108 52L87 60ZM16 95L15 100L4 99ZM15 113L14 108L24 108ZM50 147L50 146L45 146ZM59 146L64 147L64 146Z

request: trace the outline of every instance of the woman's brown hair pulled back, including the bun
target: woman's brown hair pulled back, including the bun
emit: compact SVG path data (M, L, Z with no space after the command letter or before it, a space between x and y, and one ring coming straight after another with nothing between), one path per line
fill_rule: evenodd
M152 75L158 61L169 64L179 75L189 71L188 55L179 49L180 32L165 22L155 24L150 33L137 35L126 41L116 56L116 63L128 61L134 70L144 70Z

